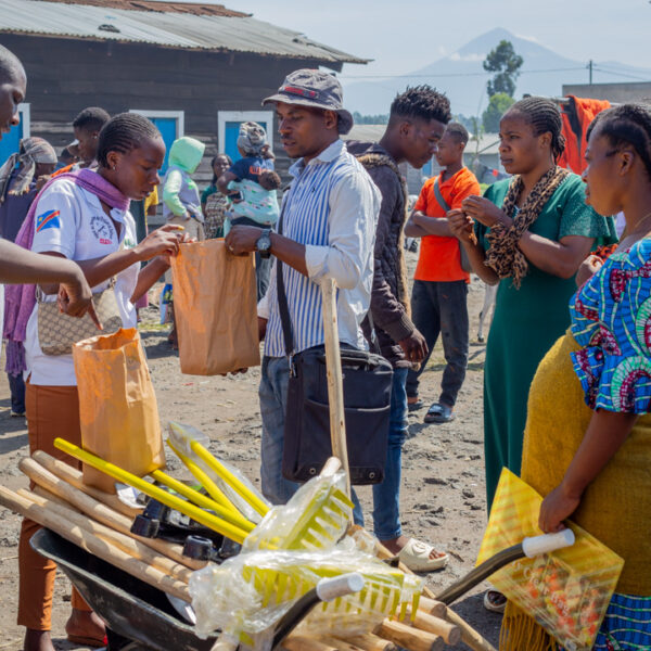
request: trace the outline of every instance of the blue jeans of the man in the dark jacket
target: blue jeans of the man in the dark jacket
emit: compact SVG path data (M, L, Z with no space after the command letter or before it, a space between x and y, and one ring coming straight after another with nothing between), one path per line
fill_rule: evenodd
M400 469L403 444L409 427L406 391L408 370L394 369L384 481L373 485L373 529L379 540L391 540L403 533L400 526Z

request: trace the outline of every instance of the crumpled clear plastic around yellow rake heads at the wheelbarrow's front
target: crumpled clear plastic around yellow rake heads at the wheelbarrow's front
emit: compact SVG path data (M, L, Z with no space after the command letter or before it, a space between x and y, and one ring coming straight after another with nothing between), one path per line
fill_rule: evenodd
M362 590L318 603L297 633L360 635L384 617L404 614L407 605L416 612L422 579L359 551L346 539L324 551L241 553L194 572L190 595L196 630L207 636L219 628L256 651L268 651L273 628L290 607L321 578L347 572L362 575Z

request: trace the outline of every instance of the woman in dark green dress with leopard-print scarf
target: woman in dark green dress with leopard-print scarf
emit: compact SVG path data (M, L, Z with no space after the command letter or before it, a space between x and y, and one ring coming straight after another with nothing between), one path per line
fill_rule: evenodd
M499 282L484 367L488 507L501 469L520 474L529 384L570 324L574 276L597 240L614 240L612 219L586 206L580 177L557 166L563 148L553 102L535 97L516 102L500 122L499 145L513 178L448 214L473 270L489 284ZM505 600L489 591L485 603L503 610Z

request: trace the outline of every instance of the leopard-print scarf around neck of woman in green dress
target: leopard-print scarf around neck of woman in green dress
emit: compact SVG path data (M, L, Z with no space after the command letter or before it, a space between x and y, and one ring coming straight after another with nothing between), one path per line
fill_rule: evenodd
M522 208L513 218L510 227L496 224L490 227L487 240L490 248L486 253L487 267L490 267L499 278L513 278L513 286L520 289L522 279L528 272L528 263L520 250L519 242L525 231L536 221L545 204L551 199L561 183L570 176L570 171L554 166L545 173L540 180L534 186L529 195L525 199ZM502 210L511 216L518 204L518 200L524 188L521 176L513 177Z

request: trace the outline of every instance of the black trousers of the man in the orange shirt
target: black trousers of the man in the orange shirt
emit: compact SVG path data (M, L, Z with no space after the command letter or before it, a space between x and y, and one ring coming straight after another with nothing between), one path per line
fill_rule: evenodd
M465 379L468 366L468 284L463 280L438 282L414 280L411 293L411 320L427 342L430 353L420 370L407 375L407 396L418 396L423 372L438 335L443 339L446 367L441 382L439 403L454 407Z

